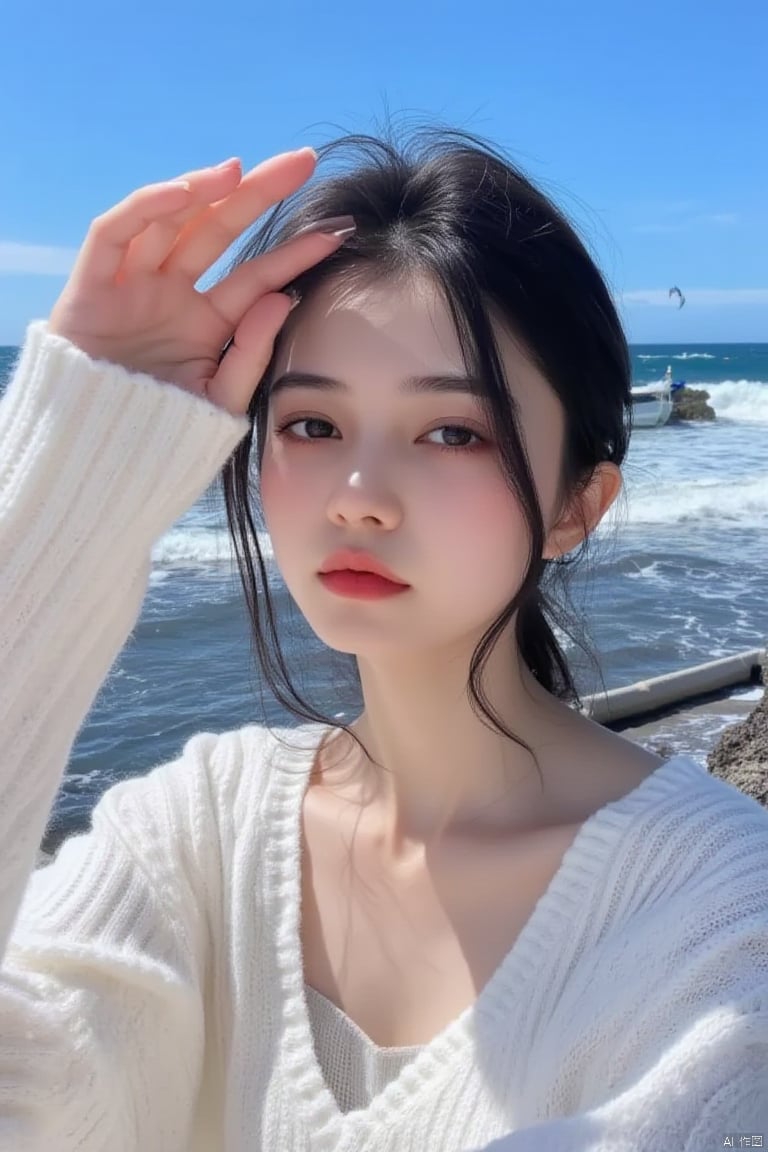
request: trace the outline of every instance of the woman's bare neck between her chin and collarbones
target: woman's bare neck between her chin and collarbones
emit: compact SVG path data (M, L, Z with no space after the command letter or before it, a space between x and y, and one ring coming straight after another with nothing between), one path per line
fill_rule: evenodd
M541 805L535 763L473 710L466 669L466 658L444 654L439 661L412 653L404 661L359 661L365 707L350 727L370 759L345 743L343 771L326 782L379 810L394 854L470 826L526 826ZM519 667L509 644L496 645L482 682L494 711L534 751L570 713Z

